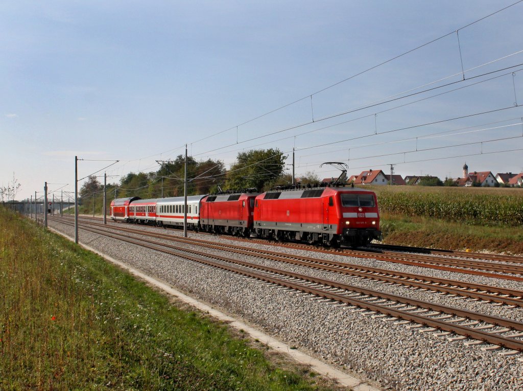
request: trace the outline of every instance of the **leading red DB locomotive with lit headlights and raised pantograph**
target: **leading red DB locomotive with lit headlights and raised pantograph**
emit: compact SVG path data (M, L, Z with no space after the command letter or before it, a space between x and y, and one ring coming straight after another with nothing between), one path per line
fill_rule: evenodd
M359 188L270 191L256 197L254 231L267 239L352 247L380 239L376 194Z

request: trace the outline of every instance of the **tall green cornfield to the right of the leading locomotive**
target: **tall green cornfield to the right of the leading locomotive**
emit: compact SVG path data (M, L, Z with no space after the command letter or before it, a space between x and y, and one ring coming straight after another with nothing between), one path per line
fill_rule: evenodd
M402 186L403 187L403 186ZM402 192L378 189L380 211L424 216L487 226L523 225L523 191L520 194L463 191Z

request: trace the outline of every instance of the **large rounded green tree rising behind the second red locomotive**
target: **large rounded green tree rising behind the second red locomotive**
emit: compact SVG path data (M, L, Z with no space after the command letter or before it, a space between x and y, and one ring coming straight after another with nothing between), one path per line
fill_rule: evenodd
M256 187L263 191L276 183L283 173L286 157L279 149L240 152L231 166L225 182L226 189Z

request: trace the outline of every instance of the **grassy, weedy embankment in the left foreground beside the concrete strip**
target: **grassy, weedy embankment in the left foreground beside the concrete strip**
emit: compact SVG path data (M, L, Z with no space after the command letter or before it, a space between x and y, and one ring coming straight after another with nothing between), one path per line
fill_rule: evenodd
M3 208L0 300L0 389L333 389Z

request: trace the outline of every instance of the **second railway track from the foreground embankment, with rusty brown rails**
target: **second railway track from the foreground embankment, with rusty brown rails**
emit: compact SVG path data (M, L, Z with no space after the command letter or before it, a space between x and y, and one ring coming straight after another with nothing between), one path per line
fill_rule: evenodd
M62 222L60 220L56 220ZM96 222L86 222L84 224L94 225L100 228L108 228L103 224ZM461 282L457 280L445 280L443 278L427 277L412 273L395 272L387 269L376 267L367 267L346 262L326 261L322 259L310 258L306 256L289 255L268 250L259 250L237 245L217 243L201 239L187 239L179 236L173 236L166 233L150 232L128 227L110 227L113 230L141 234L147 237L160 238L178 243L198 244L202 247L220 251L234 251L235 253L247 256L256 256L271 261L293 264L326 272L335 272L343 275L365 278L367 280L405 286L413 289L430 293L441 293L468 297L475 300L483 300L485 303L491 302L498 305L507 305L512 307L523 307L523 291L505 289L489 285L474 284ZM495 276L495 275L493 275Z

